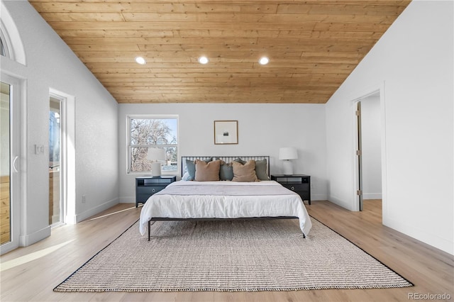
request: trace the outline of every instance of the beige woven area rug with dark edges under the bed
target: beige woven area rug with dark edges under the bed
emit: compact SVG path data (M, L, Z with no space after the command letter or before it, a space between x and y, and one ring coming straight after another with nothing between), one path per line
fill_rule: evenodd
M292 291L412 286L312 219L138 223L54 291Z

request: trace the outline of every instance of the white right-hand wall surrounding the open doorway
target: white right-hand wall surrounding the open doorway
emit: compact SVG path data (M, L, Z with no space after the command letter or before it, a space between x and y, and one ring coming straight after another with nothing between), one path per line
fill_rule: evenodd
M353 100L382 94L383 223L454 253L453 1L412 1L326 104L329 199L355 209Z

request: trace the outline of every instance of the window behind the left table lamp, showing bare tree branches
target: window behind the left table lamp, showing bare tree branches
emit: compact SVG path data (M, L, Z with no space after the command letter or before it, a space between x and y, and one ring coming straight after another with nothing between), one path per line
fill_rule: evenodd
M128 172L151 171L149 148L165 150L163 173L178 171L178 116L128 116Z

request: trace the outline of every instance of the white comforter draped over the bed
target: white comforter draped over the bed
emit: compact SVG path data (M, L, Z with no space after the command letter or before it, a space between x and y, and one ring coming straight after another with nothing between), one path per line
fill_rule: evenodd
M304 235L309 234L312 223L304 207L301 197L293 191L286 190L283 194L272 195L184 195L166 194L167 189L175 191L172 186L226 186L222 191L235 189L235 186L258 186L254 191L260 191L260 186L277 186L282 191L281 184L276 181L236 182L236 181L175 181L166 189L148 198L140 212L140 234L144 235L151 218L248 218L248 217L277 217L295 216L299 218L299 228ZM280 188L279 188L280 187ZM206 192L207 188L203 188ZM270 191L262 187L262 191ZM169 190L170 191L170 190ZM241 190L243 191L243 190ZM254 193L252 193L254 194Z

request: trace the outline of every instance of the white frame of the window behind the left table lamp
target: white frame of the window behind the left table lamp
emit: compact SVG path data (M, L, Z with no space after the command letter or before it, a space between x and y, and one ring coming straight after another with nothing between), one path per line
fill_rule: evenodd
M177 144L175 145L131 145L131 119L150 119L150 120L160 120L160 119L175 119L177 120ZM128 114L126 116L126 173L127 174L144 174L151 171L131 171L131 148L133 147L177 147L177 169L175 171L165 171L162 170L162 175L177 175L180 169L180 160L179 160L179 116L178 115L133 115Z

